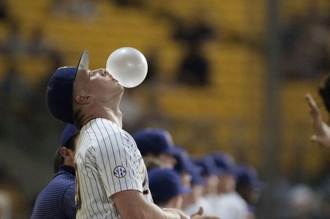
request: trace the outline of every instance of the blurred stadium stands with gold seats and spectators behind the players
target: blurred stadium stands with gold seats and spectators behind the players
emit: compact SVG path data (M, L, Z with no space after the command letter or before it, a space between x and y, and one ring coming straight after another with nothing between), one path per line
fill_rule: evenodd
M13 195L16 217L30 215L53 176L65 124L47 108L50 76L75 66L83 50L91 69L105 68L120 47L138 49L148 62L146 80L125 89L125 130L163 128L194 156L220 150L254 165L277 194L268 197L273 218L285 218L297 187L316 203L307 211L330 212L330 153L310 143L304 101L309 92L322 105L330 1L277 1L276 81L267 76L271 1L0 0L0 188ZM275 96L267 92L272 83ZM269 111L272 101L277 108Z

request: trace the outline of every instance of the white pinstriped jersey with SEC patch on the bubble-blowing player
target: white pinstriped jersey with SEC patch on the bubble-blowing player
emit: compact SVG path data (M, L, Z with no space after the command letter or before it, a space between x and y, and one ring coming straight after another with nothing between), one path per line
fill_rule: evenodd
M110 196L124 190L153 202L135 141L110 120L93 119L81 128L75 169L77 219L121 219Z

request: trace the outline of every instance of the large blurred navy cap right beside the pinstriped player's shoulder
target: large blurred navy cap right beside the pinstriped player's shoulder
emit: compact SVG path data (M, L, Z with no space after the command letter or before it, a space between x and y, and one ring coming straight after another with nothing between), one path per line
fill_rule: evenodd
M166 130L145 128L135 132L132 137L142 156L149 153L153 155L177 153L172 137Z

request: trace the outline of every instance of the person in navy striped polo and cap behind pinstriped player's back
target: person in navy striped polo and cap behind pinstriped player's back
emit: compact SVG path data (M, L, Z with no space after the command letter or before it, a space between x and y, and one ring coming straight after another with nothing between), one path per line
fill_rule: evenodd
M68 124L54 158L55 176L36 198L31 219L75 219L75 145L79 132Z

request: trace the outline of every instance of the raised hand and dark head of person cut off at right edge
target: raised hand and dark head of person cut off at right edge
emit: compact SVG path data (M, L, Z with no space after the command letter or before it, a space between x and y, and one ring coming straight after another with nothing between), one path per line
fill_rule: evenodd
M323 103L328 112L330 112L330 74L328 74L319 87L319 94L322 97ZM311 141L319 145L330 148L330 127L322 118L321 111L315 103L311 94L306 94L306 101L309 105L311 124L314 129L314 135L311 136Z

